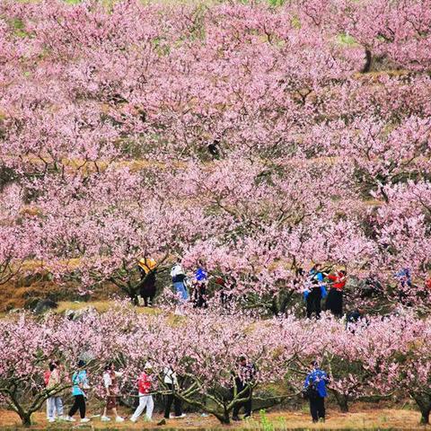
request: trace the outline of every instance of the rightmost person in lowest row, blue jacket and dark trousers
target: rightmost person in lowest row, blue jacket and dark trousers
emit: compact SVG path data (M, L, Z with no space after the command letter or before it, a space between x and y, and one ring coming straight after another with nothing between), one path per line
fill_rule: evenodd
M326 383L329 382L327 374L319 368L316 361L312 362L312 371L305 378L303 389L310 400L310 412L312 413L312 422L318 422L319 419L325 421L325 397Z

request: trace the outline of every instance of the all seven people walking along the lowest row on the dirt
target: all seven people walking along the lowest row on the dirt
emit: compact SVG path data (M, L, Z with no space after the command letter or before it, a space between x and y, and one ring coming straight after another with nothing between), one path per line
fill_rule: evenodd
M256 368L249 362L246 356L238 358L238 367L233 371L233 387L231 388L232 398L238 397L242 401L238 402L233 407L233 420L242 420L239 416L240 410L243 408L243 418L250 418L252 411L252 387L253 379L256 374ZM114 364L108 364L104 367L101 376L101 383L103 387L104 407L101 414L102 422L109 422L111 418L108 416L109 411L112 411L116 422L124 422L126 419L119 416L117 410L119 402L119 384L118 379L122 377L122 373L115 369ZM54 389L58 385L66 382L65 370L59 361L53 361L49 364L49 369L44 374L44 382L47 390ZM310 401L310 411L312 414L312 421L325 419L325 402L327 396L326 384L329 382L328 376L323 372L318 363L313 361L310 373L307 374L303 383L303 397ZM89 422L91 419L86 415L86 391L90 389L87 371L85 370L85 362L79 360L77 363L77 370L72 375L72 395L74 403L69 409L68 414L64 416L63 400L61 393L52 395L47 400L47 419L48 422L54 422L56 419L75 422L75 413L79 410L81 422ZM156 382L154 379L153 366L147 362L144 370L136 379L136 389L138 396L138 405L129 418L131 422L136 422L137 419L145 411L145 421L153 420L154 399L153 394L156 391ZM171 367L163 369L163 386L166 388L164 393L164 419L169 418L184 418L186 415L182 410L181 400L175 396L175 391L179 388L177 374ZM160 391L159 391L160 392ZM172 404L174 413L171 413Z

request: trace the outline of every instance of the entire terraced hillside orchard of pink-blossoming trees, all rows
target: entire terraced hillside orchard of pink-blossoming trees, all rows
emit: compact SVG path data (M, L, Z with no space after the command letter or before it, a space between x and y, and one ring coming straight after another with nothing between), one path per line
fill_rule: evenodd
M108 362L123 393L171 366L227 424L246 356L256 399L297 398L317 359L339 409L411 399L428 423L430 29L430 0L0 2L2 297L121 297L2 314L2 406L30 425L73 386L45 387L48 362L83 356L94 393ZM207 308L172 294L175 262L205 269ZM327 290L345 273L336 317L304 317L316 263Z

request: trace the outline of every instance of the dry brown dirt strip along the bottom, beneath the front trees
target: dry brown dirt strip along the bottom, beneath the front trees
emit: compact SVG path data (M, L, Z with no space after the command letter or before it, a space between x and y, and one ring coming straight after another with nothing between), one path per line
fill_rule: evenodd
M123 412L124 413L124 412ZM128 415L124 414L124 417ZM88 424L80 425L79 421L75 423L55 423L49 424L46 420L46 415L43 411L37 412L32 417L33 426L30 429L66 429L66 428L80 428L80 429L184 429L184 430L197 430L197 429L226 429L233 428L242 430L256 430L272 431L272 430L305 430L305 429L321 429L321 430L431 430L431 426L420 426L420 415L418 411L409 409L361 409L352 408L352 411L346 414L339 413L338 410L329 409L327 420L324 424L312 424L310 416L306 409L301 411L268 411L265 414L264 422L259 412L253 414L253 418L241 423L233 423L231 426L222 426L216 418L207 417L202 418L198 414L190 414L182 419L170 419L166 425L158 426L157 423L162 419L159 414L154 415L154 421L151 423L145 422L143 418L139 418L136 424L130 421L125 421L118 424L115 421L109 423L101 422L101 418L92 417L92 412L88 414L92 418ZM21 422L18 416L9 410L0 410L0 429L12 430L21 429Z

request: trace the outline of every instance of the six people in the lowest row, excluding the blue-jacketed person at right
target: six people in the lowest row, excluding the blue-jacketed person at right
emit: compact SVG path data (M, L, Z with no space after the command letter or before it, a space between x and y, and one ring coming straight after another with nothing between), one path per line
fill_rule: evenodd
M58 386L67 386L70 382L72 386L72 395L74 398L73 405L68 410L68 414L64 414L63 407L63 394L62 391L56 392L47 400L47 419L48 422L55 422L64 420L75 422L75 414L79 411L81 422L89 422L91 419L86 417L86 401L87 390L90 389L88 374L85 369L86 364L84 360L79 360L77 369L72 374L71 381L68 381L66 372L61 366L59 361L52 361L49 363L48 370L44 374L44 383L47 390L55 390ZM232 396L240 395L243 402L237 403L233 409L233 420L241 420L239 412L242 407L244 408L244 418L251 416L251 381L255 375L254 365L250 364L245 356L241 356L238 360L238 369L233 372L233 388ZM112 411L116 422L124 422L126 419L119 416L117 410L120 393L119 393L119 378L123 376L122 373L115 369L115 365L110 363L105 365L103 374L101 376L101 385L103 392L104 406L101 413L101 421L109 422L111 418L108 416ZM164 419L169 418L184 418L186 415L182 410L182 402L180 398L175 396L175 391L180 388L177 374L172 370L172 367L165 367L163 369L162 382L165 390L157 391L165 395L164 404ZM154 378L153 366L147 362L141 374L136 379L136 389L138 397L138 405L135 412L129 418L131 422L136 422L145 410L145 421L153 420L154 399L153 394L157 390L156 379ZM171 413L173 404L173 414Z

